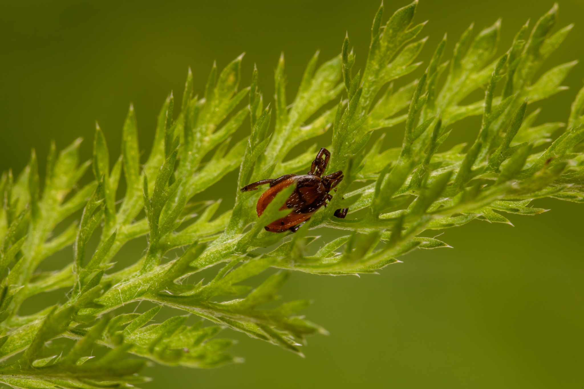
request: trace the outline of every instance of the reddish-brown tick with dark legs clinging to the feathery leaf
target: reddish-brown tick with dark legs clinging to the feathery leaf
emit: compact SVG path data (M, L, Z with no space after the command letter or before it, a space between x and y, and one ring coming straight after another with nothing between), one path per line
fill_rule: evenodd
M325 156L324 159L322 156ZM302 174L300 176L297 174L284 174L284 176L278 178L261 180L241 188L242 192L248 192L257 190L258 188L256 187L259 187L259 185L270 184L270 188L263 192L258 199L256 212L259 217L262 216L266 206L272 202L281 190L296 184L296 189L288 197L286 204L280 208L280 211L286 208L293 208L293 211L287 216L284 216L284 218L274 220L274 222L265 226L266 231L285 232L286 230L290 230L291 232L296 232L321 206L324 205L326 207L326 201L332 199L332 195L329 192L335 189L340 181L343 180L343 177L345 177L340 170L328 174L328 176L322 176L330 158L331 153L329 150L322 148L314 161L312 161L312 167L308 174ZM349 208L337 209L335 216L345 219L347 211L349 211Z

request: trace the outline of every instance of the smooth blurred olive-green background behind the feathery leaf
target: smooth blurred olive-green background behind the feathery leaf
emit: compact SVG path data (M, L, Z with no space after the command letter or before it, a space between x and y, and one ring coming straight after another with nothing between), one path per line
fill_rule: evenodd
M386 1L386 15L406 3ZM51 139L62 148L83 136L89 158L95 120L113 159L130 101L141 149L148 150L158 110L170 90L182 94L187 66L202 92L213 61L222 67L243 51L242 86L255 62L266 101L284 51L291 99L314 51L322 59L338 54L345 31L357 68L363 66L378 6L378 0L3 1L0 170L20 171L32 147L42 160ZM444 32L451 52L468 24L481 29L498 17L503 52L526 19L533 25L551 6L549 0L422 1L416 20L430 20L430 38L420 58L427 61ZM576 27L546 68L584 58L583 16L582 0L560 3L559 26ZM565 82L571 89L544 101L541 122L566 121L583 75L576 66ZM477 125L461 122L450 145L471 139ZM399 131L387 131L388 143ZM232 178L207 197L222 195L230 206L225 193L235 190ZM307 316L331 332L310 338L304 359L225 331L239 339L232 352L244 364L157 366L145 372L154 381L144 387L582 388L584 205L536 205L552 211L511 215L515 227L474 221L447 230L440 239L454 248L415 251L380 275L294 274L282 294L314 299Z

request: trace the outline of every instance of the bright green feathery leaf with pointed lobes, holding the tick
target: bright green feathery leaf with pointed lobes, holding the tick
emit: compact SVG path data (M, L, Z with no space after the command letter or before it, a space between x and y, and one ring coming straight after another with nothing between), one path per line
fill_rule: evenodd
M142 167L130 107L122 155L112 167L97 128L92 163L79 164L81 141L58 154L51 145L42 191L34 152L16 180L10 171L4 174L0 356L6 362L0 366L0 381L20 388L124 387L142 380L136 374L147 360L191 367L237 362L225 352L231 341L214 339L223 327L300 353L305 337L324 332L294 316L308 302L261 308L277 298L291 271L373 273L416 247L447 246L420 236L425 230L474 219L508 223L496 211L545 211L528 206L535 198L583 202L583 155L577 150L584 139L584 89L572 104L566 130L553 142L550 137L564 124L533 126L539 110L526 115L528 103L564 89L561 82L575 65L556 66L534 79L572 27L551 32L557 5L531 32L527 24L522 27L499 58L494 58L499 22L475 37L469 27L451 60L443 62L445 37L421 78L394 90L395 79L420 66L413 61L426 39L416 40L423 28L423 23L412 26L416 6L414 2L397 10L384 26L381 6L362 75L353 75L355 57L348 38L341 54L320 66L316 54L290 107L283 57L276 69L273 107L264 107L257 71L252 85L238 91L239 57L220 73L216 67L211 70L201 99L193 96L189 72L180 107L175 109L172 94L162 107L154 145ZM461 103L481 87L483 100ZM244 106L246 96L249 103ZM231 135L248 115L251 135L231 145ZM438 152L450 134L448 126L472 115L481 115L482 123L468 150L463 144ZM275 124L270 126L272 116ZM381 151L381 142L367 148L374 130L400 123L405 123L401 148ZM286 157L294 146L331 127L329 171L345 172L331 204L295 234L266 232L263 226L289 212L278 208L292 188L282 191L259 219L259 193L238 188L308 170L317 145L294 159ZM95 181L77 189L90 166ZM218 201L192 201L237 167L232 211L215 216ZM122 171L126 188L117 196ZM345 207L352 212L347 219L333 216L335 209ZM52 235L58 223L81 210L78 223ZM309 232L317 227L345 234L312 248L315 237ZM89 240L98 232L97 250L86 255ZM144 256L130 267L114 267L114 255L140 236L148 236ZM71 265L36 273L43 260L71 244ZM275 248L260 254L263 247ZM180 248L180 257L165 257ZM215 267L211 281L188 282L190 275L196 278ZM255 289L241 284L270 267L277 271ZM70 290L68 302L32 316L18 315L25 299L58 288ZM225 300L237 295L243 298ZM124 311L126 304L143 300L156 305L144 313ZM187 327L186 316L148 325L163 305L217 325L202 327L199 321ZM58 342L61 338L76 342L71 346Z

